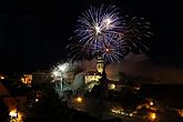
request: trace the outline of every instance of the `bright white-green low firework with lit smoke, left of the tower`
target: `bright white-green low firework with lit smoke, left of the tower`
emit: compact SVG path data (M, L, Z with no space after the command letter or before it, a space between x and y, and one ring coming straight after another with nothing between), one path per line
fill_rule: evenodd
M70 75L71 72L74 73L79 70L79 62L64 62L57 64L52 71L52 83L54 84L54 90L59 94L60 99L67 98L67 93L74 93L78 89L83 85L84 75L82 73L78 73L75 77ZM70 77L74 77L73 79Z

